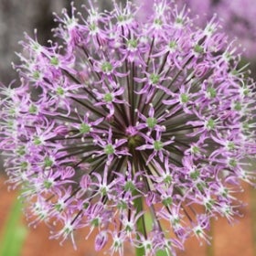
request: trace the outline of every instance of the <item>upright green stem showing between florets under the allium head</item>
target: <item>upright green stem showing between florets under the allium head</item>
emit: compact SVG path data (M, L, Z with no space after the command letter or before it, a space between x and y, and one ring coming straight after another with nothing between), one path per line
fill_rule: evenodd
M137 197L136 199L134 199L133 203L134 203L134 208L136 208L137 214L143 211L142 197ZM140 219L137 220L136 230L137 230L137 232L144 235L144 237L146 237L146 230L145 230L145 225L144 225L144 215ZM137 239L138 240L140 239L140 237L138 235L137 235ZM143 246L137 247L135 250L135 255L136 256L144 256L145 255L144 247Z

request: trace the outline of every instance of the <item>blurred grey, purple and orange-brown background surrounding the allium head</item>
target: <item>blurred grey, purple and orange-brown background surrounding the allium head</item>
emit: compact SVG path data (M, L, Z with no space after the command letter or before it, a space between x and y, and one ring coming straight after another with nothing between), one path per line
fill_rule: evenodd
M76 6L87 0L74 1ZM125 2L117 0L119 2ZM144 5L140 13L146 18L152 11L153 0L134 0ZM167 0L168 1L168 0ZM171 0L169 0L171 1ZM191 15L197 15L197 26L203 26L217 13L222 19L222 27L230 40L243 51L243 61L251 62L251 76L256 78L256 5L255 0L176 0L178 5L186 4ZM111 0L98 0L101 10L110 9ZM46 45L52 39L52 12L60 13L63 7L69 9L69 0L0 0L0 82L8 85L17 79L12 62L17 63L15 52L21 47L18 41L23 39L24 31L33 36L37 28L38 41ZM244 49L243 49L244 48ZM2 165L0 165L2 166ZM28 228L26 220L20 214L21 206L16 201L18 191L7 191L4 168L0 170L0 256L93 256L103 255L94 252L94 241L84 240L84 234L78 236L78 251L66 242L59 246L58 240L48 240L48 227L39 225L37 229ZM230 226L226 219L214 222L211 236L212 246L199 246L197 240L187 241L186 251L178 251L179 256L255 256L256 255L256 193L255 189L244 185L245 193L239 195L247 206L240 208L243 215L238 223ZM85 230L86 233L86 230ZM133 255L133 250L125 249L125 256Z

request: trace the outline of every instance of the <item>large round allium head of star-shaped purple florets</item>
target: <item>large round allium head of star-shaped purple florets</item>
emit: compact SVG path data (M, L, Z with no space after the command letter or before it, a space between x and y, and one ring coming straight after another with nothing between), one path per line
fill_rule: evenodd
M240 55L215 19L195 29L165 0L144 23L130 2L84 10L56 16L62 45L26 35L21 84L2 88L0 145L30 223L53 223L50 237L74 246L77 229L96 230L110 255L124 242L175 255L189 236L209 241L209 219L239 215L233 193L255 178L254 83Z

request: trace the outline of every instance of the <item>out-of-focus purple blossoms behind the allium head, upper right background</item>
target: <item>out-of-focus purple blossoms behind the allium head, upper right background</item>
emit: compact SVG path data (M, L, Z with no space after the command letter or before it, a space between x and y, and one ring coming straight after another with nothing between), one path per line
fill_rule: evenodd
M140 19L146 20L153 12L154 0L136 0L143 6ZM195 18L197 26L205 27L214 15L221 18L221 25L229 38L236 39L237 47L244 48L243 55L255 59L256 8L254 0L177 0L177 5L187 5L191 10L189 16Z

